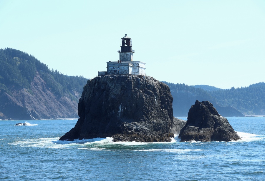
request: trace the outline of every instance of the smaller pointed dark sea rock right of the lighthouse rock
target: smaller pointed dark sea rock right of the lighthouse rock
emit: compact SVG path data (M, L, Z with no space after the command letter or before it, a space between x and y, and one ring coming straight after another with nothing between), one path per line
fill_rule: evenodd
M186 125L180 130L179 138L183 141L231 141L240 137L228 120L218 114L209 101L191 106Z

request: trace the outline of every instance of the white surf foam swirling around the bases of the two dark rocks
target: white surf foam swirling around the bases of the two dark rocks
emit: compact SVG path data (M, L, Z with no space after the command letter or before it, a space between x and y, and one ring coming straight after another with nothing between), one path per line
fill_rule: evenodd
M264 139L262 135L250 134L237 132L240 136L241 140L233 141L233 142L249 142L255 140ZM69 149L69 148L77 148L77 149L85 149L85 150L133 150L133 151L163 151L163 152L190 152L190 151L202 151L200 149L192 150L192 149L160 149L158 148L159 144L182 144L179 143L180 139L178 135L175 135L175 138L171 138L171 142L153 142L153 143L144 143L144 142L113 142L113 138L93 138L86 140L74 140L74 141L60 141L58 138L36 138L36 139L27 139L27 140L18 140L13 143L8 143L10 145L20 146L20 147L39 147L39 148L53 148L53 149ZM184 142L185 143L185 142ZM205 142L194 142L205 144ZM193 142L191 144L194 144ZM146 149L143 149L144 145ZM156 145L156 148L152 148L152 145ZM135 147L136 146L136 147Z

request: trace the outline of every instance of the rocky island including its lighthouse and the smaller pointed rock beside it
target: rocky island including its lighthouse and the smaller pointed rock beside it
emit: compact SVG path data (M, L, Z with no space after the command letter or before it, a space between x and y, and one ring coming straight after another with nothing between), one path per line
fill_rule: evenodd
M228 121L208 101L198 100L188 121L173 116L168 85L145 76L145 63L133 61L132 40L121 38L120 60L88 80L78 103L79 119L59 140L112 137L117 141L170 142L240 139ZM180 131L181 130L181 131Z

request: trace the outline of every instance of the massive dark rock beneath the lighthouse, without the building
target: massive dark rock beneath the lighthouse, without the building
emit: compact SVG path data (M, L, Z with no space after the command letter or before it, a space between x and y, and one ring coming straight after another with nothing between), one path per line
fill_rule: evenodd
M185 125L173 117L168 86L148 76L111 75L87 81L74 128L59 140L169 142Z

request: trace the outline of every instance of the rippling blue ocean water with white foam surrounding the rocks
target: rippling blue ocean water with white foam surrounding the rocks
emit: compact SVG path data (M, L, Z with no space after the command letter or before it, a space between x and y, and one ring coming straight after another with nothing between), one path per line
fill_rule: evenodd
M227 119L242 140L68 142L77 120L2 120L0 180L264 180L265 117Z

